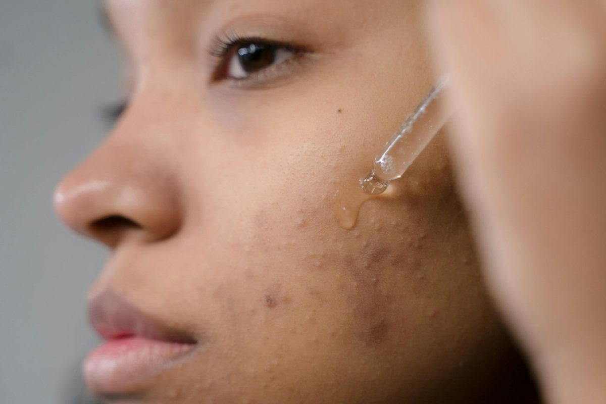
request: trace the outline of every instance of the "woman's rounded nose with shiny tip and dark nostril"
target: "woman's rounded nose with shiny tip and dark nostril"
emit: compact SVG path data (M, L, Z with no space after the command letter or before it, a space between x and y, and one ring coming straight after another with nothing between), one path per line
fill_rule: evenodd
M177 174L149 138L110 137L55 190L59 217L73 230L116 247L167 239L181 226Z

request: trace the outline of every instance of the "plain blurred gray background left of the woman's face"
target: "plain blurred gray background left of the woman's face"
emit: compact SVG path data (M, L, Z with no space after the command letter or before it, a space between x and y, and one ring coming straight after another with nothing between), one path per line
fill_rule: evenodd
M106 251L52 209L102 142L120 55L92 0L0 0L0 403L82 402L85 293Z

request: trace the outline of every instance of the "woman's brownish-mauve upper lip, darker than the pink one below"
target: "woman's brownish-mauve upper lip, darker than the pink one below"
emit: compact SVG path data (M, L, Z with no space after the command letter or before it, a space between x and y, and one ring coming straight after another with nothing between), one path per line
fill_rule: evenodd
M196 343L190 334L143 313L111 289L88 302L88 320L104 339L138 336L168 342Z

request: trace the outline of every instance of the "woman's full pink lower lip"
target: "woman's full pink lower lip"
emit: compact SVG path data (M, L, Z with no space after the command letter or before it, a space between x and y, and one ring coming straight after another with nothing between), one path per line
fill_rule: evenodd
M96 393L125 393L193 351L194 344L136 336L107 340L84 361L84 378Z

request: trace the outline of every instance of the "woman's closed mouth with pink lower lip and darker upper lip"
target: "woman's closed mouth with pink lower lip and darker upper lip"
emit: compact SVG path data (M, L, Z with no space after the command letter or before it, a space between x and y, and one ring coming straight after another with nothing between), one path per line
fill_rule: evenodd
M101 346L84 360L84 379L100 395L135 391L145 379L180 363L198 341L142 313L107 290L92 299L88 318Z

